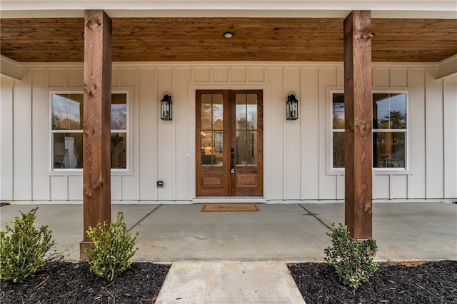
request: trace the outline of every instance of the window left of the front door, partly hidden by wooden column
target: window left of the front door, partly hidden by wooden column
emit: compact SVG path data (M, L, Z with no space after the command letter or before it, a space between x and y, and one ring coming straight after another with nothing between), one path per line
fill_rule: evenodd
M83 113L83 94L51 94L53 170L83 168ZM127 93L111 94L111 168L127 168Z

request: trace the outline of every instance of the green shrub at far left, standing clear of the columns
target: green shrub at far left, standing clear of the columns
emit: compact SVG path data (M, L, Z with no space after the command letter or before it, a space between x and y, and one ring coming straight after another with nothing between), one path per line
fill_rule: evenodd
M0 231L0 279L22 282L24 278L34 275L46 259L44 255L54 245L51 230L34 226L35 213L38 207L11 222L13 228L6 224L6 230ZM9 235L11 233L11 235Z

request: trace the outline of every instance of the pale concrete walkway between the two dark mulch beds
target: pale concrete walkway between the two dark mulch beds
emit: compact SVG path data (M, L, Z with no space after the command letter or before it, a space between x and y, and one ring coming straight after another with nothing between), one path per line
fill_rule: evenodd
M285 263L174 263L157 304L305 303Z

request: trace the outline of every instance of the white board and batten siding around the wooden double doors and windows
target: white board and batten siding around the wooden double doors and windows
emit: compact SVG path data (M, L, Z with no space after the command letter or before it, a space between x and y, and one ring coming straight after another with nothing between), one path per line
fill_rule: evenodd
M373 170L373 198L457 198L457 79L436 80L434 64L373 64L373 89L408 91L408 168ZM50 94L82 92L82 64L20 66L21 81L1 79L0 198L82 200L81 171L50 170ZM344 172L331 170L331 89L343 64L114 64L113 91L128 92L129 168L113 171L112 199L189 203L195 198L195 91L263 90L263 196L267 201L344 199ZM169 91L173 121L161 121ZM286 121L295 91L300 116ZM163 188L156 181L164 181Z

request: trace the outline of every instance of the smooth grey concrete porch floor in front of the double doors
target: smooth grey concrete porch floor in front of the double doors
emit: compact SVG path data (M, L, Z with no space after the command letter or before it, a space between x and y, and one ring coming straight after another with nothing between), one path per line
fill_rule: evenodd
M0 208L1 229L19 211L39 206L36 226L48 225L54 251L79 260L81 205L15 205ZM130 231L139 230L137 261L323 261L331 223L344 222L343 203L259 204L260 212L200 212L201 205L113 205ZM374 203L373 238L378 261L457 259L457 205Z

